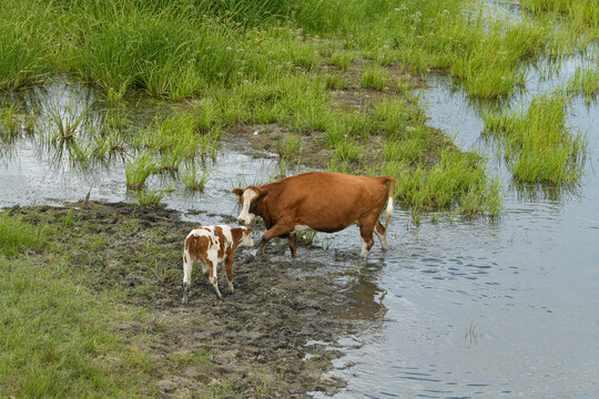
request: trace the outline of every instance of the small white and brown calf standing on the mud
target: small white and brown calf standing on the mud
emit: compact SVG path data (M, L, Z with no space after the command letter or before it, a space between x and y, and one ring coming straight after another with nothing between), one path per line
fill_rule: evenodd
M183 304L187 303L194 262L202 264L202 272L209 272L209 280L220 299L216 267L225 263L229 291L233 293L233 253L238 246L254 246L251 227L202 226L195 227L185 238L183 250Z

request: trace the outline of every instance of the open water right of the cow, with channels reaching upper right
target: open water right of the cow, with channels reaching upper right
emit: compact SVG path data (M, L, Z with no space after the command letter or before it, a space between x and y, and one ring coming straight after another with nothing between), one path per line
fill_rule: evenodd
M531 73L514 102L564 83L583 62L566 60L549 80ZM446 78L429 84L428 124L490 158L505 209L496 221L417 227L395 212L388 253L364 272L384 293L372 299L385 321L349 337L354 349L336 362L348 386L336 397L599 397L599 106L575 100L569 109L568 125L589 140L580 185L517 185L483 139L480 105Z

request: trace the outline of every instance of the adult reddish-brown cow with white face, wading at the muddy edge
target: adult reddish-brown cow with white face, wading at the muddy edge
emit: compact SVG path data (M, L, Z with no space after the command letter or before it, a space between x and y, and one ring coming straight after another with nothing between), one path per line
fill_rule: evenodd
M387 192L387 183L390 183ZM339 232L353 223L359 226L362 257L368 256L374 245L373 232L387 249L386 232L393 214L395 180L388 176L352 176L335 172L308 172L283 178L260 187L235 188L242 202L237 217L250 224L261 216L267 232L262 236L256 256L264 254L264 246L273 237L286 237L295 257L296 233ZM387 202L385 226L378 217Z

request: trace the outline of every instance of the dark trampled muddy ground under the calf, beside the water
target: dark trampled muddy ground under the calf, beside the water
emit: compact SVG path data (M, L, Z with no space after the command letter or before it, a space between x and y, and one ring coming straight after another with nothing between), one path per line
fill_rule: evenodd
M115 321L114 328L131 348L152 359L155 383L149 395L333 393L345 386L327 372L342 355L334 349L336 338L373 323L342 315L363 305L333 284L335 274L345 272L314 262L308 249L292 260L286 241L267 246L262 260L253 260L255 249L240 248L233 295L224 270L219 275L223 300L196 266L190 303L183 306L182 245L197 223L183 222L180 213L93 201L69 207L13 207L10 213L54 226L60 232L54 245L73 267L85 270L89 288L116 289L122 299L115 309L139 310L139 316ZM231 216L222 219L230 223ZM336 256L359 264L357 252Z

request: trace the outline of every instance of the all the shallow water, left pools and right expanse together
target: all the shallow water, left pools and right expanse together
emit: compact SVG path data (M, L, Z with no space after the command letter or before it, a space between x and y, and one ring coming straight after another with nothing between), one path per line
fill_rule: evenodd
M531 73L530 92L515 101L564 81L582 62L567 60L552 80ZM415 226L398 204L389 250L375 244L366 265L357 256L336 256L358 254L357 227L319 235L326 249L300 248L300 256L332 265L323 273L355 301L337 306L338 316L365 320L363 332L339 337L346 356L335 360L334 374L348 385L336 397L599 397L599 106L580 100L570 110L569 124L585 131L590 143L578 187L515 185L493 145L480 139L479 105L453 92L445 78L429 83L422 94L429 125L491 158L489 173L505 183L505 212L493 221L447 216ZM94 98L60 82L28 95L21 99L28 106L41 96L75 108ZM43 121L47 110L43 102L38 105ZM99 105L91 119L102 112ZM265 182L276 166L274 157L255 158L224 143L209 164L213 178L205 192L191 195L174 183L165 202L191 221L222 223L221 215L237 213L231 188ZM155 178L150 185L169 183ZM122 160L82 172L28 137L0 152L0 206L63 204L84 198L90 188L92 200L132 201Z

